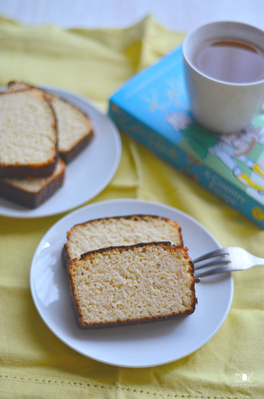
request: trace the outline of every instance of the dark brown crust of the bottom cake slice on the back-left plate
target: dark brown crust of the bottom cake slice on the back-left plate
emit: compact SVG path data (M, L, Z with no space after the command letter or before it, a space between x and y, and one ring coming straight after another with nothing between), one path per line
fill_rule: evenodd
M63 162L59 160L58 162ZM0 179L0 197L18 203L19 205L26 206L27 208L36 208L44 201L50 198L63 184L65 176L65 164L61 173L54 177L45 187L37 193L22 190L13 186L11 183L5 182Z

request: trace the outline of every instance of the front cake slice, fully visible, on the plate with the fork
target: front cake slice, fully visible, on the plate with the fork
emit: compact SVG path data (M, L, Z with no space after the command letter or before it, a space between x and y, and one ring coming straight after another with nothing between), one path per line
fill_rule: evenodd
M68 267L73 307L81 328L176 318L194 312L193 263L170 242L90 251Z

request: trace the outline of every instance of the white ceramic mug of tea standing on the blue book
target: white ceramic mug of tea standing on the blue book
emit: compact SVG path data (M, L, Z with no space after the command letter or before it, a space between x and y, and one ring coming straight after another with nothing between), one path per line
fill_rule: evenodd
M246 23L218 21L191 31L182 45L186 88L191 112L205 128L235 133L249 126L264 103L264 79L231 83L210 77L193 63L195 51L208 40L221 38L251 42L264 51L264 31Z

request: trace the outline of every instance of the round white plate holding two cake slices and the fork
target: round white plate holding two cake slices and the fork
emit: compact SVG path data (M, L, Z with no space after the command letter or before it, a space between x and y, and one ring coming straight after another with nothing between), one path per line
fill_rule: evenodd
M108 200L83 206L55 223L40 241L30 271L35 306L50 330L77 352L116 366L156 366L196 351L220 328L233 297L232 276L223 273L196 284L198 305L190 316L101 330L79 329L61 261L66 231L89 219L140 213L176 220L193 258L220 247L200 223L176 208L142 200Z

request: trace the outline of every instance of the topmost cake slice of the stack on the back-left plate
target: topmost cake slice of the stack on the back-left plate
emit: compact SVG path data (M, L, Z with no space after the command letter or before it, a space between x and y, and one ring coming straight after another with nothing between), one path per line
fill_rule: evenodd
M0 177L51 175L57 145L55 114L44 93L0 93Z

